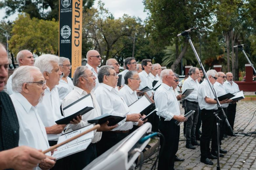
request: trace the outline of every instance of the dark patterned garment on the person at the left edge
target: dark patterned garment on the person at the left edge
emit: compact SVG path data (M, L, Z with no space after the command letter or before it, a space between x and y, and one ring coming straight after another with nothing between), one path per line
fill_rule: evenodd
M19 144L19 122L10 96L0 92L0 151Z

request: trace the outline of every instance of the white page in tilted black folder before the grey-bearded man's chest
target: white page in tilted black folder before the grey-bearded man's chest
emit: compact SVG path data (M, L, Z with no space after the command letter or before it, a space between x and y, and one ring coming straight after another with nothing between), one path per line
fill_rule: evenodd
M70 106L68 108L64 108L63 114L65 117L73 115L74 113L84 109L86 106L94 107L93 99L92 99L91 95L87 96L83 100L80 100L79 102L76 102L75 104L73 104L72 106Z

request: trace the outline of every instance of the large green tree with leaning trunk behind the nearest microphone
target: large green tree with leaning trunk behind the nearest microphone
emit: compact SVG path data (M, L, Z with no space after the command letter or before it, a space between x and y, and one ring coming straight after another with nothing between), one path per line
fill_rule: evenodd
M165 47L175 44L176 61L171 68L175 71L187 49L187 40L179 41L177 34L191 27L209 29L214 0L144 0L145 10L150 12L147 30L155 45ZM183 48L178 56L179 45Z

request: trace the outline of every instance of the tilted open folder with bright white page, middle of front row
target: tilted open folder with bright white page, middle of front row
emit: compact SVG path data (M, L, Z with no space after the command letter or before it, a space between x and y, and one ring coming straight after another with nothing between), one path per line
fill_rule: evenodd
M129 110L131 113L147 114L148 109L150 109L154 103L151 102L147 95L142 96L137 101L129 105Z

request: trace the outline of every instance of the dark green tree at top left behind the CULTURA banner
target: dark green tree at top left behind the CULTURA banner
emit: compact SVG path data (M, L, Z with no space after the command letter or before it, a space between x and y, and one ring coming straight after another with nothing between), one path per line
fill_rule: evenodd
M31 18L59 20L59 1L61 0L4 0L0 2L0 9L6 8L8 17L15 12L26 12ZM93 6L95 0L83 0L84 10ZM50 9L50 10L48 10Z

